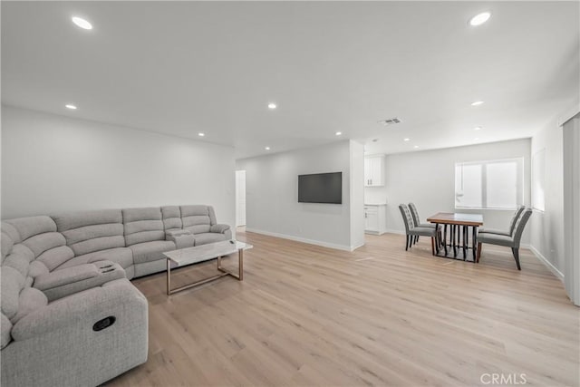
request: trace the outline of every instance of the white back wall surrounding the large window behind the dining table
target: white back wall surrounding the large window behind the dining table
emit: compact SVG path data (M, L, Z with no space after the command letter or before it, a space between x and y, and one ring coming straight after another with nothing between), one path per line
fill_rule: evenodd
M511 140L444 150L387 155L385 187L365 188L365 202L387 200L387 228L404 233L399 204L414 202L423 221L437 212L483 214L484 226L507 228L513 211L455 209L455 163L459 161L524 158L524 204L530 203L530 140ZM522 244L529 243L528 229Z

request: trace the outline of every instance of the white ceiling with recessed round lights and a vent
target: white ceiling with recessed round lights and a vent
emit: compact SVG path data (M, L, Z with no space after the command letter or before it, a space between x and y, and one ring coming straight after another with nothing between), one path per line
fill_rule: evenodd
M1 6L5 104L196 140L204 131L237 158L335 131L372 153L525 138L579 100L578 2ZM487 24L468 25L486 10ZM401 124L377 123L391 117Z

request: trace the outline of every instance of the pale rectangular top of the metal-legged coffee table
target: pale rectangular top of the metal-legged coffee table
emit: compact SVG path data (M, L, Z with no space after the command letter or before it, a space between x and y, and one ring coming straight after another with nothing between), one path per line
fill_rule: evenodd
M176 263L177 266L183 266L207 261L218 256L228 256L239 250L247 250L252 247L252 245L238 240L233 241L233 243L229 240L224 240L222 242L208 243L207 245L168 251L167 253L163 253L163 255Z

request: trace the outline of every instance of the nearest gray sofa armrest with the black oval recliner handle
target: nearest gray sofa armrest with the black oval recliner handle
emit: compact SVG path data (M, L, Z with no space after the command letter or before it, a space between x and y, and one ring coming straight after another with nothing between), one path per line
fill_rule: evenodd
M27 314L2 349L1 384L96 386L145 363L147 309L123 278Z

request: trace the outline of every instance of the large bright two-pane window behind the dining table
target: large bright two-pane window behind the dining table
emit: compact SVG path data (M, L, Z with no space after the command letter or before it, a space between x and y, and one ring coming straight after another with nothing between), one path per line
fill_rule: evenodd
M455 208L515 209L524 201L524 160L455 164Z

